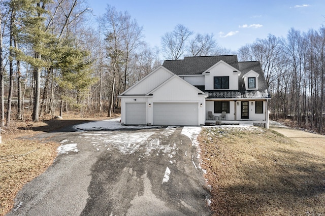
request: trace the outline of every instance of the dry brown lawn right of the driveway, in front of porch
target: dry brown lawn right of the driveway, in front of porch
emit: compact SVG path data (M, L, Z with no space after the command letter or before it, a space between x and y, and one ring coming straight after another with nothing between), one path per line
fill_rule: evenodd
M214 215L324 215L325 143L263 128L205 128L199 141Z

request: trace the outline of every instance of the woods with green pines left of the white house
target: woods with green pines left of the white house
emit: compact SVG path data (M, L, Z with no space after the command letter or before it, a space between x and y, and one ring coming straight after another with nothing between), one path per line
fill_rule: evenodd
M0 0L0 11L0 126L29 110L35 122L74 109L111 115L158 64L136 20L113 7L95 25L86 1Z

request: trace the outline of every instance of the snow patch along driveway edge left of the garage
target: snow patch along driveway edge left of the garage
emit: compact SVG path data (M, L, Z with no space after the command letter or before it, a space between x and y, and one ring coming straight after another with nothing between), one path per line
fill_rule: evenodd
M156 126L147 125L122 125L120 118L109 119L104 121L88 122L80 125L74 125L73 128L77 131L87 130L108 130L108 129L145 129L155 128Z

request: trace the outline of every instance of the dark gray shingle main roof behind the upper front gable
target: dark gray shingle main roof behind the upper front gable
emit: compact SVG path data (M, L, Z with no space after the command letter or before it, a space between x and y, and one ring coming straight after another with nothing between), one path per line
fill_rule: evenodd
M239 70L237 55L185 57L183 60L166 60L163 66L176 75L199 75L220 60Z

